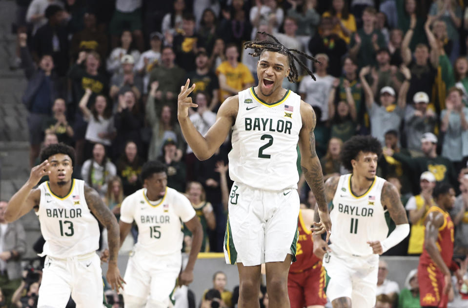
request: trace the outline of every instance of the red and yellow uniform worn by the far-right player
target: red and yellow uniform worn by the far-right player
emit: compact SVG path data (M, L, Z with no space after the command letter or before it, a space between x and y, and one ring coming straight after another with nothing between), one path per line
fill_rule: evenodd
M436 246L444 260L444 263L449 269L456 269L456 264L452 262L453 256L453 222L450 219L448 212L445 212L439 207L432 206L427 211L440 212L444 215L444 223L439 228ZM424 247L424 246L423 246ZM448 295L443 293L444 290L444 274L437 267L435 262L430 257L426 248L423 248L423 253L419 258L418 266L418 281L421 306L433 306L446 308L448 304Z

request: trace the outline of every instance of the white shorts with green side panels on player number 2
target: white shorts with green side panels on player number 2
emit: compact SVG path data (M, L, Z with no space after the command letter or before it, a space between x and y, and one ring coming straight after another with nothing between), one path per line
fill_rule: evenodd
M299 195L295 189L267 191L234 182L224 236L227 264L255 266L295 261Z

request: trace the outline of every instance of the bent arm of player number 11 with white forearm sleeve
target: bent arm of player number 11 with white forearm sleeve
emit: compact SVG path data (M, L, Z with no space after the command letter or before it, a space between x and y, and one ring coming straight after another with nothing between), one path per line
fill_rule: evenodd
M390 182L385 182L384 186L382 187L381 202L390 213L390 217L395 222L396 228L382 242L367 242L367 244L372 247L373 252L378 254L382 254L396 244L400 243L409 234L408 218L405 207L400 200L400 193Z

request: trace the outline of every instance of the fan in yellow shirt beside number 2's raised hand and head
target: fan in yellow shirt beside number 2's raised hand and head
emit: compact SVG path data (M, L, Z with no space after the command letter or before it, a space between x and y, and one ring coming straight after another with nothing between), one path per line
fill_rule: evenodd
M239 51L235 44L228 44L225 53L227 60L216 68L221 88L221 102L227 97L237 95L239 91L253 86L255 81L247 66L237 61Z

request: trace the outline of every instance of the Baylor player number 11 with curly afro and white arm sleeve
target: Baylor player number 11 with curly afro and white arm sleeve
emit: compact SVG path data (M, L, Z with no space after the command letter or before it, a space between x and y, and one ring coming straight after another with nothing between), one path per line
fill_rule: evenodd
M331 244L327 246L320 235L313 240L314 253L323 257L329 277L326 296L333 308L374 307L379 255L409 233L400 193L375 175L380 154L376 138L352 137L342 151L342 163L352 173L330 177L325 183L326 198L332 200ZM317 215L315 221L319 221Z

